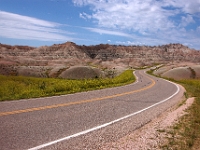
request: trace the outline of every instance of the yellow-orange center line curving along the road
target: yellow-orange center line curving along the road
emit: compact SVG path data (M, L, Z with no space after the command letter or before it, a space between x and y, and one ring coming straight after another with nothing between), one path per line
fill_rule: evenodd
M69 102L69 103L63 103L63 104L56 104L56 105L35 107L35 108L29 108L29 109L15 110L15 111L10 111L10 112L2 112L2 113L0 113L0 117L1 116L14 115L14 114L20 114L20 113L39 111L39 110L45 110L45 109L58 108L58 107L66 107L66 106L70 106L70 105L91 103L91 102L95 102L95 101L101 101L101 100L106 100L106 99L109 99L109 98L115 98L115 97L120 97L120 96L124 96L124 95L129 95L129 94L141 92L141 91L150 89L151 87L153 87L155 85L155 81L151 78L149 78L149 79L152 81L152 83L149 86L147 86L145 88L138 89L138 90L120 93L120 94L115 94L115 95L110 95L110 96L105 96L105 97L94 98L94 99L81 100L81 101L77 101L77 102Z

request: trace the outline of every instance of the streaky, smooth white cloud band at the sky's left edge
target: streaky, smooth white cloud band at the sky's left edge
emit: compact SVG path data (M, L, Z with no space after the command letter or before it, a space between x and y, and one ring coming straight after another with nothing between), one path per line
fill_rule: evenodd
M40 41L67 41L70 34L58 27L61 24L0 11L0 36Z

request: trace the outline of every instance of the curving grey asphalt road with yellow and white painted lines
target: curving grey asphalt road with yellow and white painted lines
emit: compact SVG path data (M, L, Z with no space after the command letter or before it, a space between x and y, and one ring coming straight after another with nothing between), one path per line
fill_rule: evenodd
M101 149L158 116L183 94L177 85L142 70L135 74L137 82L123 87L1 102L0 150Z

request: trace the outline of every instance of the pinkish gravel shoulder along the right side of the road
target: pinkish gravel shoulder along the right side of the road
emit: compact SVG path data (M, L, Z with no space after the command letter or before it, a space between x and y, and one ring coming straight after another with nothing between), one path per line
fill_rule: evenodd
M180 86L181 90L184 90ZM176 105L169 108L157 118L147 123L143 127L135 130L129 135L126 135L115 142L104 144L103 150L158 150L162 145L167 144L166 131L170 130L178 119L185 115L185 110L194 102L194 98L187 99L184 103L182 99Z

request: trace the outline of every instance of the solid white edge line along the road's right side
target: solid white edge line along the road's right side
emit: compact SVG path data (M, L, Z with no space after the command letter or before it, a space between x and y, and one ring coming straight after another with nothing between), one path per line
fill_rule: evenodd
M180 88L179 88L179 86L178 86L177 84L175 84L175 83L173 83L173 82L171 82L171 81L168 81L168 80L165 80L165 81L170 82L170 83L174 84L174 85L177 87L177 91L176 91L173 95L171 95L170 97L168 97L168 98L166 98L166 99L164 99L164 100L162 100L162 101L160 101L160 102L158 102L158 103L155 103L155 104L153 104L153 105L151 105L151 106L149 106L149 107L146 107L146 108L144 108L144 109L142 109L142 110L140 110L140 111L134 112L134 113L132 113L132 114L129 114L129 115L124 116L124 117L121 117L121 118L116 119L116 120L113 120L113 121L111 121L111 122L102 124L102 125L100 125L100 126L96 126L96 127L94 127L94 128L91 128L91 129L88 129L88 130L85 130L85 131L82 131L82 132L79 132L79 133L76 133L76 134L73 134L73 135L70 135L70 136L67 136L67 137L64 137L64 138L55 140L55 141L52 141L52 142L49 142L49 143L45 143L45 144L42 144L42 145L39 145L39 146L30 148L30 149L28 149L28 150L39 150L39 149L41 149L41 148L44 148L44 147L47 147L47 146L50 146L50 145L53 145L53 144L56 144L56 143L59 143L59 142L65 141L65 140L69 140L69 139L71 139L71 138L75 138L75 137L78 137L78 136L80 136L80 135L84 135L84 134L87 134L87 133L89 133L89 132L96 131L96 130L98 130L98 129L104 128L104 127L106 127L106 126L109 126L109 125L114 124L114 123L116 123L116 122L119 122L119 121L121 121L121 120L130 118L130 117L132 117L132 116L134 116L134 115L137 115L137 114L139 114L139 113L141 113L141 112L143 112L143 111L145 111L145 110L148 110L148 109L150 109L150 108L152 108L152 107L155 107L155 106L157 106L157 105L159 105L159 104L161 104L161 103L164 103L164 102L168 101L169 99L171 99L172 97L174 97L176 94L178 94L178 92L180 91Z

